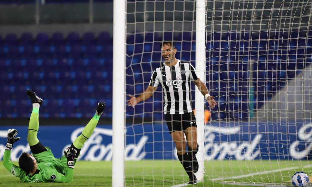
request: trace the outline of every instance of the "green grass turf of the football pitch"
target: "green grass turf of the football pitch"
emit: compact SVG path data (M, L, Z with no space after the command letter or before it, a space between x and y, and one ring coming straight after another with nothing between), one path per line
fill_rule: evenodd
M290 185L285 181L290 180L295 171L305 171L309 176L311 175L310 167L305 167L309 165L312 163L308 161L206 161L204 182L198 183L197 186L240 186L219 184L222 181ZM0 186L111 186L111 167L109 161L78 161L74 169L73 183L56 184L22 183L1 165ZM287 168L293 167L295 168L287 170ZM125 168L126 186L173 186L188 182L188 176L178 161L127 161ZM281 171L283 169L286 170ZM268 173L248 177L241 176L260 172ZM235 176L239 178L231 179ZM215 180L217 178L223 179Z

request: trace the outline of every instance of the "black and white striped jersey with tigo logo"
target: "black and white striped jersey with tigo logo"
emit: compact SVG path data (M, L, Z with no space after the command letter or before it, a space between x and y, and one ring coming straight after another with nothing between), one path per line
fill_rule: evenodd
M163 65L154 70L149 85L163 88L164 113L183 114L192 112L191 81L198 74L191 63L180 62L172 67Z

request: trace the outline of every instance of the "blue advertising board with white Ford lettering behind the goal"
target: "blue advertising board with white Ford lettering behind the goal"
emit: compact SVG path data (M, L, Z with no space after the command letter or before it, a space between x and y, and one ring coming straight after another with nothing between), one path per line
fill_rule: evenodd
M56 158L63 149L80 135L84 126L42 126L38 138L49 146ZM205 128L206 160L253 159L306 159L311 146L311 122L285 123L212 123ZM3 155L7 129L0 128L0 151ZM14 127L22 137L12 149L12 160L22 151L30 151L27 145L27 127ZM176 159L176 150L167 125L145 124L127 126L125 160ZM112 128L97 126L81 151L82 160L111 160Z

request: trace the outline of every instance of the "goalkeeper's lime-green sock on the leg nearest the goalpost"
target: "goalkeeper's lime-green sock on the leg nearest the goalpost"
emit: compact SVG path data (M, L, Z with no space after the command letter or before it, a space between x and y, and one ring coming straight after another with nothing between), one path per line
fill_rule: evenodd
M73 145L76 148L81 149L83 144L85 144L85 142L90 138L97 123L99 122L99 119L100 119L100 114L96 112L95 115L90 120L90 122L85 126L80 136L78 136L73 142Z

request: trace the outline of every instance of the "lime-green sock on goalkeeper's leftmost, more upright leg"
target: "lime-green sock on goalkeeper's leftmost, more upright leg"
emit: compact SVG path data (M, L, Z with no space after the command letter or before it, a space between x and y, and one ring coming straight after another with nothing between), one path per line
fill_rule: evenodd
M27 141L30 146L36 145L39 140L37 133L39 129L39 103L33 103L32 114L30 115L28 125Z

